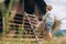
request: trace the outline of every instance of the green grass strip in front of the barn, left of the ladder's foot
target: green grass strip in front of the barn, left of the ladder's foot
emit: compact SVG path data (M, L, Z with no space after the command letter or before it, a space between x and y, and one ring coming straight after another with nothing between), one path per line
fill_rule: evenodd
M25 42L25 41L0 41L0 44L37 44L37 42Z

